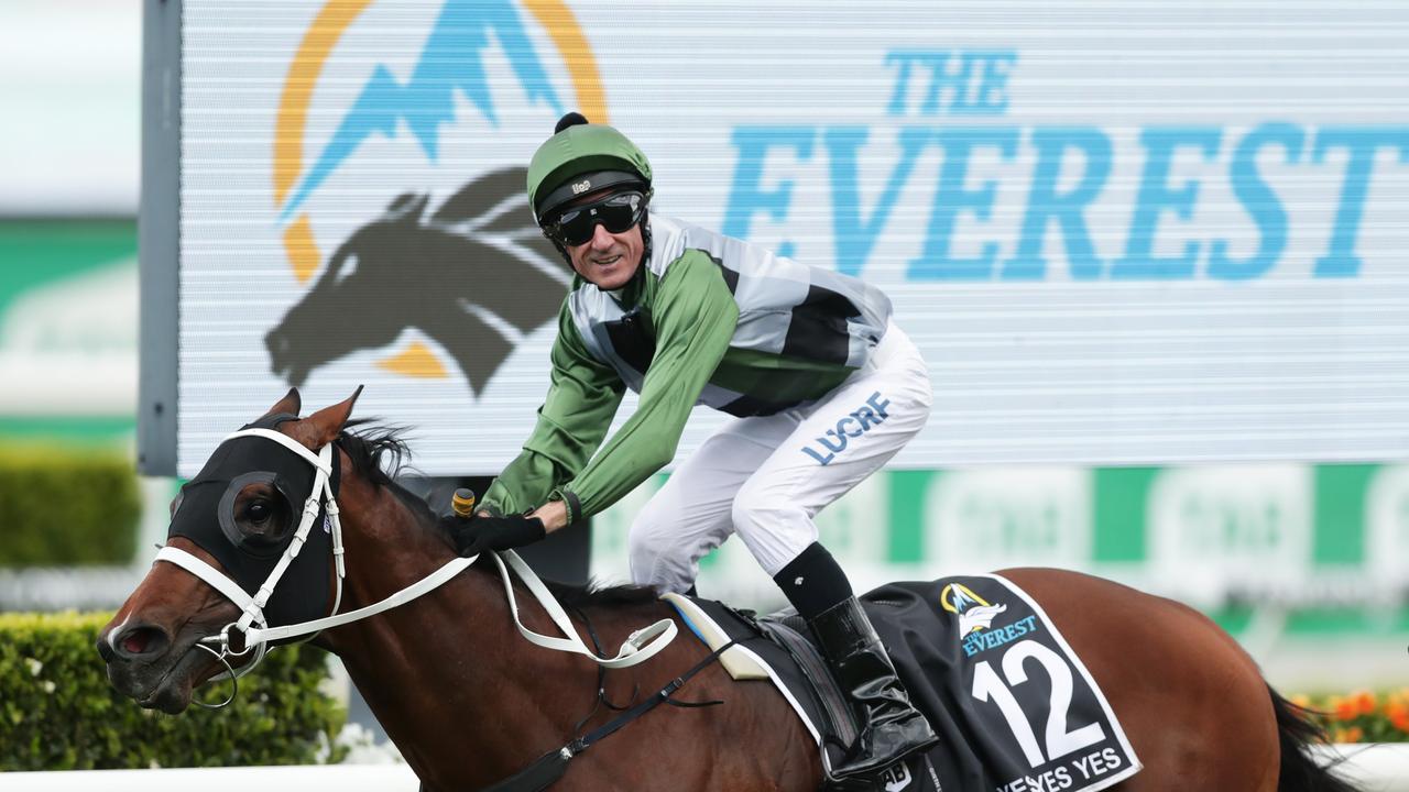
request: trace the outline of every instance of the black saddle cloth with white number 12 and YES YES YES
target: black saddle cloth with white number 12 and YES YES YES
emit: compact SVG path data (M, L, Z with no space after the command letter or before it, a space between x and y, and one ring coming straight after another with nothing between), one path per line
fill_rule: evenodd
M795 614L757 617L669 595L731 674L769 679L836 762L855 737L845 702ZM1041 607L998 575L903 582L861 598L938 745L881 781L886 792L1096 792L1140 771L1105 695ZM754 665L757 664L757 665Z

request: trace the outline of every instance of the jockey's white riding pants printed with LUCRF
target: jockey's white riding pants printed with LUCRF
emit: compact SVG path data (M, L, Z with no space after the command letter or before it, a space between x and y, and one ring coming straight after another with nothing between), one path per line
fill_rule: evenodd
M817 541L813 516L914 437L930 416L924 358L893 323L827 396L710 435L631 524L631 578L683 592L737 533L769 576Z

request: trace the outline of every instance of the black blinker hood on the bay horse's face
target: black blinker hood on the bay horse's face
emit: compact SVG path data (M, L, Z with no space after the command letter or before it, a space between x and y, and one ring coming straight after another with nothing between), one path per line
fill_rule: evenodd
M269 428L297 420L279 413L241 428ZM303 505L313 492L317 471L307 459L263 437L237 437L216 448L196 478L178 496L166 538L186 537L211 554L225 574L251 596L269 578L293 541L303 519ZM333 493L338 492L338 454L333 454ZM286 502L283 521L271 537L244 533L235 521L234 500L251 483L268 483ZM320 509L299 551L273 588L265 606L268 626L296 624L328 614L333 537L327 509Z

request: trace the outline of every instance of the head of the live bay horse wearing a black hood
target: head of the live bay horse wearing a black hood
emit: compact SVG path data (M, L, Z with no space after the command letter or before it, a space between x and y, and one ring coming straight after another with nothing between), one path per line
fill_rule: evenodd
M190 705L196 686L230 669L230 657L237 658L235 665L252 665L252 647L238 645L238 630L235 645L223 647L230 657L220 657L211 644L223 634L231 637L230 629L249 610L249 598L258 596L294 541L307 552L293 554L279 576L285 585L275 586L279 590L251 621L302 621L333 610L328 544L334 540L325 534L325 521L314 520L330 514L318 510L324 479L309 459L318 459L318 451L340 435L355 400L352 395L300 420L299 393L289 390L245 427L252 431L221 443L182 488L170 506L168 543L158 562L99 634L97 650L117 691L144 707L178 713ZM275 441L272 434L286 441ZM338 455L330 451L324 459ZM340 468L337 462L328 466L334 475ZM314 513L304 514L310 492ZM197 575L192 565L210 572Z

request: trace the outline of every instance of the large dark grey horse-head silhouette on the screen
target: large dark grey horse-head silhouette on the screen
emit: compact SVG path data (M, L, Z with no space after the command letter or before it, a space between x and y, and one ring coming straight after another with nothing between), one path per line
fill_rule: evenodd
M397 196L354 231L265 335L271 369L292 386L414 328L483 392L513 348L558 314L572 271L533 223L523 168L471 180L426 216Z

